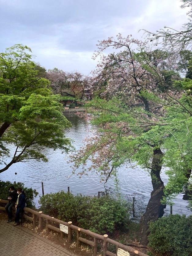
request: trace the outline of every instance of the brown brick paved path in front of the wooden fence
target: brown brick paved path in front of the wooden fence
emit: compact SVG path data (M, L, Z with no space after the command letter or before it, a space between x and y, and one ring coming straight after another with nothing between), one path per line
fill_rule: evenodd
M0 255L17 256L79 256L29 230L14 227L13 222L0 220Z

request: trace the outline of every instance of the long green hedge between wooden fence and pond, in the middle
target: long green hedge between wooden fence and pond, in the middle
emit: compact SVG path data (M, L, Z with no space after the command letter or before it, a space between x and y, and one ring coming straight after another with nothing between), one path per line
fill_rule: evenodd
M107 196L74 196L61 191L40 197L39 203L43 213L99 234L127 228L129 223L126 203Z

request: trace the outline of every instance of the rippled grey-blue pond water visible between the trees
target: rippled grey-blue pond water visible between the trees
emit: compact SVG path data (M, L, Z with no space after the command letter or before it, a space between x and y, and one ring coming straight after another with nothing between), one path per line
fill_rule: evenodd
M88 136L91 127L84 119L74 113L65 113L65 116L73 125L72 128L66 130L66 137L73 139L74 147L79 149L82 146L82 141ZM105 191L104 182L100 181L97 174L83 175L81 178L78 175L72 175L68 178L72 173L71 164L67 163L68 156L62 154L59 150L43 150L49 159L47 163L31 160L28 163L13 164L7 171L0 174L0 180L23 182L25 186L36 189L40 196L42 195L41 182L44 185L44 194L60 190L67 191L68 186L73 194L97 195L98 191ZM15 175L15 172L17 172L17 175ZM135 197L136 215L144 213L152 191L151 178L148 172L139 167L122 166L119 169L118 179L122 195L129 201L132 200L133 196ZM164 169L162 170L161 179L164 184L167 183L168 177L165 175ZM110 179L106 186L108 189L111 188L110 191L114 191L113 179ZM37 207L38 199L37 197L35 200ZM174 202L173 214L186 214L187 216L191 214L191 211L187 208L188 201L183 200L183 194L177 195ZM169 214L169 212L170 206L167 206L165 213Z

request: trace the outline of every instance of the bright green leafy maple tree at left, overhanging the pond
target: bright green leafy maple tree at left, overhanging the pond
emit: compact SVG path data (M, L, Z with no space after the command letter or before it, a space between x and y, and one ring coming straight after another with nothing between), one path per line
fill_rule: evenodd
M47 161L43 147L68 151L64 130L71 123L63 116L60 96L53 95L47 79L37 77L31 49L21 44L0 54L0 163L30 159ZM9 155L9 145L14 153ZM6 157L11 160L7 163Z

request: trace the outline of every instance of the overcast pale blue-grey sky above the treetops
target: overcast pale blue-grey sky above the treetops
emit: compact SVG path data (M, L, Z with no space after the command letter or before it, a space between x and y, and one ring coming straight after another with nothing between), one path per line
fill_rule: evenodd
M16 43L32 49L46 69L88 74L98 40L122 33L141 39L145 28L181 28L179 0L0 0L0 52Z

